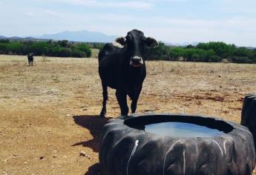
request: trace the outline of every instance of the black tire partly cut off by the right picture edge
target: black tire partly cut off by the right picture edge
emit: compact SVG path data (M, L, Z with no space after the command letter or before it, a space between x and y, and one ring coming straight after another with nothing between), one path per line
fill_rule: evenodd
M256 143L256 93L245 96L243 100L241 125L249 128Z

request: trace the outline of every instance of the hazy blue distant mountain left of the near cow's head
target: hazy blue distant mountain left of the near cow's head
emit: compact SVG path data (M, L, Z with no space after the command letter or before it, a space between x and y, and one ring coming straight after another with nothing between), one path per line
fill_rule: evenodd
M64 31L61 33L34 36L37 39L68 40L73 42L113 42L116 36L108 36L104 33L91 32L88 30Z

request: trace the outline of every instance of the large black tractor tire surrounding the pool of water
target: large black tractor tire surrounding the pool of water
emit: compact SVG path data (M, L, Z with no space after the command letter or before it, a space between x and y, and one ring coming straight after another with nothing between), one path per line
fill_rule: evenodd
M134 128L156 122L191 122L224 133L214 137L161 136ZM246 127L203 116L137 115L111 119L102 130L99 163L104 175L252 174L255 147Z

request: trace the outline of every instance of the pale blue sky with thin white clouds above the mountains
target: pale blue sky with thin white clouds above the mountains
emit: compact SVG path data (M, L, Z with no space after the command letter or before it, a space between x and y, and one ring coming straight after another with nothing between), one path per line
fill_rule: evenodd
M0 0L0 35L134 28L171 43L223 41L256 47L255 0Z

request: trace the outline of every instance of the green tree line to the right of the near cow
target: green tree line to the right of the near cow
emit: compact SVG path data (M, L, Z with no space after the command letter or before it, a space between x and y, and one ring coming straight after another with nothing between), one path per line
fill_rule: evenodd
M256 63L256 49L236 47L224 42L199 43L197 46L170 47L160 43L148 50L149 60L171 60L185 62L236 62Z

